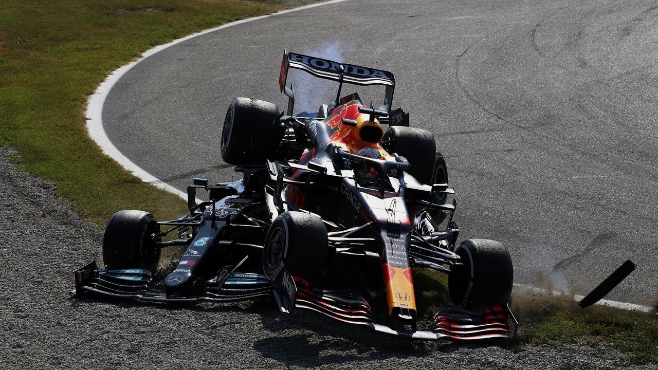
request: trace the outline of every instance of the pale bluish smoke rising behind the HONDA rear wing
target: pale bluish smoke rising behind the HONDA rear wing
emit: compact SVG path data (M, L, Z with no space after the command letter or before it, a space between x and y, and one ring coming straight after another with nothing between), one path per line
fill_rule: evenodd
M334 41L324 43L316 49L301 51L301 54L345 63L345 58L349 57L347 51L353 49L354 45L346 45L341 41ZM311 76L307 72L290 69L288 86L290 86L290 83L293 84L295 90L295 114L304 111L316 113L321 104L329 104L332 101L336 101L338 82L322 80L321 78Z

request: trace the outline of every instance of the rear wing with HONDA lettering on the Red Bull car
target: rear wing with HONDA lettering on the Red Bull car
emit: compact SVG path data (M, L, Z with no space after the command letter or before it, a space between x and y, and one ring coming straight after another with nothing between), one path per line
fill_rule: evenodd
M328 59L311 57L309 55L288 53L284 49L284 58L281 61L281 71L279 74L279 88L281 92L288 90L286 80L288 79L288 69L295 68L304 70L318 78L339 82L338 93L336 94L336 104L340 97L340 90L343 82L361 86L383 85L386 86L384 96L384 106L386 111L390 111L393 102L393 90L395 90L395 76L389 70L378 70L365 66L349 65L338 63ZM290 92L286 92L289 95ZM290 96L290 95L289 95Z

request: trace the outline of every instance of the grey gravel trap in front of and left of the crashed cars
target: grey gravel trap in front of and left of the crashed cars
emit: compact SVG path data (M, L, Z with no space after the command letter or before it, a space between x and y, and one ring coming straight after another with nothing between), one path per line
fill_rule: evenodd
M26 176L0 147L0 368L657 369L614 348L411 342L281 315L270 300L166 306L68 299L72 271L99 257L102 230ZM26 227L29 226L29 227Z

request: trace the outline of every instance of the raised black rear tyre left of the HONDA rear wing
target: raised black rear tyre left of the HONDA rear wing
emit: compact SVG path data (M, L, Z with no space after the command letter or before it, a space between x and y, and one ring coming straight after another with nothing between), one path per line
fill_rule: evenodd
M231 165L263 165L278 147L284 129L279 109L267 101L236 97L222 128L222 159Z

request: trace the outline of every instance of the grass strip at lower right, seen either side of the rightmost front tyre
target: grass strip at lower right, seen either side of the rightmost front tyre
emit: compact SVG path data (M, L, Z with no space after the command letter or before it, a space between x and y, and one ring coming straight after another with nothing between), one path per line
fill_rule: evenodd
M414 281L415 286L435 287L417 292L420 318L429 320L438 307L451 303L445 275L422 271L414 275ZM511 346L610 344L628 354L628 363L658 361L658 315L599 305L582 309L567 294L528 293L517 288L510 307L519 321Z

